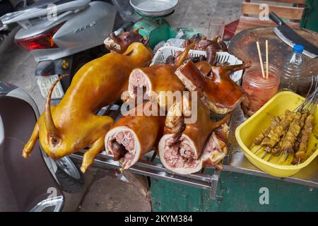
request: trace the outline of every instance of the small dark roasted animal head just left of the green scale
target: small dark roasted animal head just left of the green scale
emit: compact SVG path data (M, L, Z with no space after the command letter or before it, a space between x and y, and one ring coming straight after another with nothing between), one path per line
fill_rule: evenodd
M105 47L114 52L122 54L133 42L143 42L145 45L148 44L148 40L139 34L140 29L143 28L137 28L136 30L123 32L117 36L114 34L114 32L110 33L110 37L107 37L107 39L104 41Z

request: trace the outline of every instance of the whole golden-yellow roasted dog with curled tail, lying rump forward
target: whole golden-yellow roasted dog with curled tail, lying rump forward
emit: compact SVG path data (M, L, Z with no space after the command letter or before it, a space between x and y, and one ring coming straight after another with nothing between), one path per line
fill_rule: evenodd
M79 69L56 107L50 107L56 83L52 85L45 112L23 149L23 157L30 155L37 139L45 153L54 160L90 145L81 166L81 171L86 171L104 147L105 134L113 124L110 117L95 113L120 98L122 91L127 89L132 69L147 66L152 59L151 49L139 42L122 50L126 51L105 54Z

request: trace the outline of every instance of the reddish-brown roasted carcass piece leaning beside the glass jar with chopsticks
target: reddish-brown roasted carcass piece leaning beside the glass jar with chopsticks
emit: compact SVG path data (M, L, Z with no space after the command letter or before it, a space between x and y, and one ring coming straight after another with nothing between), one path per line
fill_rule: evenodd
M176 75L188 90L196 90L201 100L213 112L227 114L240 105L245 97L240 86L230 78L230 73L249 66L249 61L231 66L211 66L211 74L206 76L192 61L187 61L177 69Z

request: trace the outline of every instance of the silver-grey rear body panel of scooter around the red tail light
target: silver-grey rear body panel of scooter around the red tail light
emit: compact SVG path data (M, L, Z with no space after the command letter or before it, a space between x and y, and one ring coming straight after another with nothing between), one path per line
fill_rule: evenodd
M88 7L76 13L66 12L58 20L35 22L29 29L21 28L16 39L40 35L45 30L64 23L54 34L53 40L59 48L30 51L36 61L55 60L103 44L114 27L116 9L102 1L90 2Z

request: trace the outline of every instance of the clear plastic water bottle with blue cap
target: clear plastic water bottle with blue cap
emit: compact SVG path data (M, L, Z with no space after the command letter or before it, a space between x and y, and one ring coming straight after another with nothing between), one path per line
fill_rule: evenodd
M300 82L302 62L304 61L302 51L304 51L304 47L300 44L295 44L293 53L288 56L281 73L280 87L282 90L290 90L296 93Z

